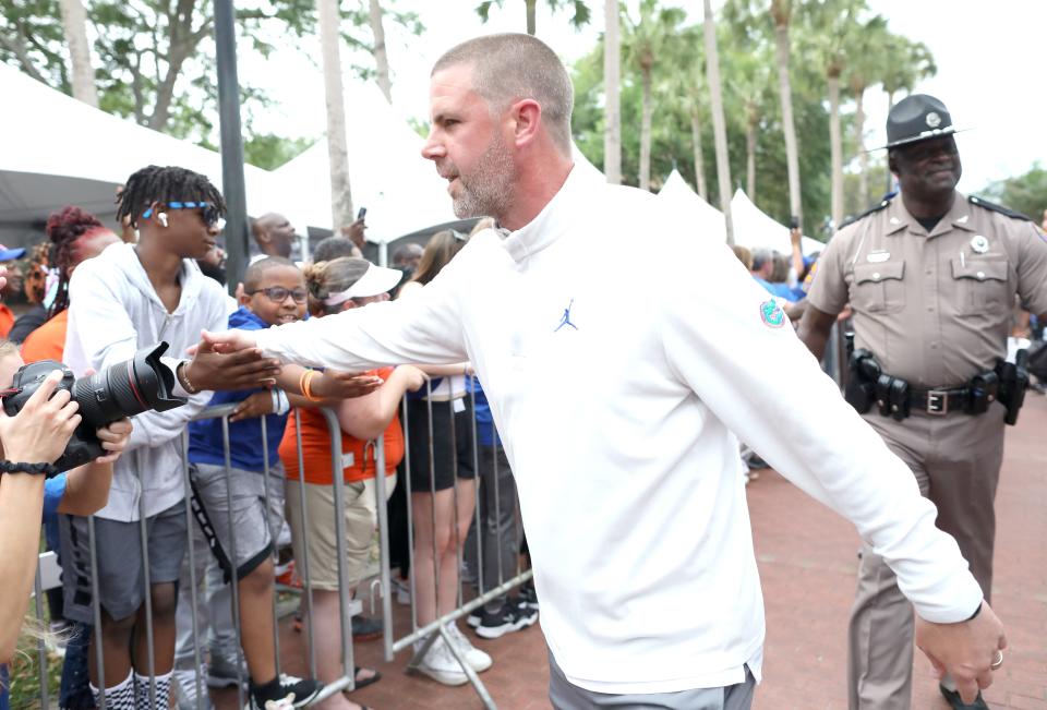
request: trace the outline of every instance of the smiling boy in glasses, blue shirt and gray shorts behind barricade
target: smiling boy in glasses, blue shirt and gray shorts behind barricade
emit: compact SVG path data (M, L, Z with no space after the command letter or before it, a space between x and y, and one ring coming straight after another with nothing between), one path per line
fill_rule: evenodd
M243 280L240 308L229 316L230 328L261 330L305 315L305 280L289 260L258 260L248 267ZM276 387L218 392L210 400L212 406L229 404L237 407L229 418L228 472L221 419L189 426L193 513L226 580L237 582L240 645L251 675L250 707L265 708L267 700L286 700L290 694L293 706L300 707L321 686L315 681L277 677L273 641L273 553L284 525L285 478L277 447L290 401Z

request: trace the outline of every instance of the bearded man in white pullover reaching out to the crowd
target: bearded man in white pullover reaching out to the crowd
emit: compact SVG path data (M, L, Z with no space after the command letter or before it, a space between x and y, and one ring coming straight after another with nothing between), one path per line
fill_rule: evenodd
M459 216L502 229L418 298L215 347L344 370L473 363L517 477L556 708L750 706L763 605L732 430L855 524L973 700L1006 641L934 506L729 250L571 169L555 53L469 40L436 63L430 101L423 156Z

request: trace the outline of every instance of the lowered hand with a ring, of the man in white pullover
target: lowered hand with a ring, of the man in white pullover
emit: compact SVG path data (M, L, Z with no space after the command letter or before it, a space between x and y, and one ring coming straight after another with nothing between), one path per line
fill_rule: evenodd
M1007 648L1003 624L982 602L978 615L958 624L934 624L916 617L916 646L927 654L938 677L952 676L956 691L971 705L978 690L992 685L994 662Z

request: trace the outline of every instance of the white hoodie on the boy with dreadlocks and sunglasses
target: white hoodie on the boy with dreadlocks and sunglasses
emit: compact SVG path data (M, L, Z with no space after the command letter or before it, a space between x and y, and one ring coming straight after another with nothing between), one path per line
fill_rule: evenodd
M132 244L113 244L77 266L69 285L65 364L81 377L88 368L103 372L130 360L139 348L164 340L170 346L165 361L173 368L185 349L200 341L202 329L227 327L221 286L189 258L182 260L180 280L181 299L168 313ZM181 385L174 394L188 396ZM109 503L96 515L129 522L140 517L140 497L146 517L184 497L180 435L210 396L202 392L182 407L134 417L128 449L113 467Z

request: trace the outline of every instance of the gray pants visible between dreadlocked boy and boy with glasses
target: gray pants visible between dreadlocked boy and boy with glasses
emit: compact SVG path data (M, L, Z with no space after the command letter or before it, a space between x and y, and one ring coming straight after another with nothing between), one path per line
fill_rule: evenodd
M196 594L196 630L201 641L206 640L212 653L225 658L236 658L237 633L232 624L232 590L222 581L221 567L210 554L207 540L200 526L192 527L192 544L196 567L196 589L190 585L189 555L182 558L182 574L179 579L178 611L174 625L178 640L174 647L174 667L181 671L193 670L193 607L192 594ZM200 649L201 661L205 660L204 648Z

